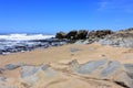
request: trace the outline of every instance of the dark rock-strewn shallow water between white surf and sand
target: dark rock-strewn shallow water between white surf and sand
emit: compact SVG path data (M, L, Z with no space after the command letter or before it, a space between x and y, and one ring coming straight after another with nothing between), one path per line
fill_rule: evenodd
M48 40L32 40L32 41L11 41L10 43L0 43L0 55L10 53L27 52L35 48L48 48L50 46L61 46L68 43L68 40L48 38Z

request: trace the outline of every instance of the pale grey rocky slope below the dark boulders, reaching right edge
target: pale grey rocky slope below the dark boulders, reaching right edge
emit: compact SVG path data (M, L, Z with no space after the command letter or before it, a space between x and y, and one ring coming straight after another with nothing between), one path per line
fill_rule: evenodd
M92 32L90 37L86 40L80 40L76 41L75 44L91 44L91 43L100 43L102 45L111 45L111 46L117 46L117 47L133 47L133 33L113 33L109 35L103 34L103 37L100 34L100 37L98 35L93 34L95 32Z

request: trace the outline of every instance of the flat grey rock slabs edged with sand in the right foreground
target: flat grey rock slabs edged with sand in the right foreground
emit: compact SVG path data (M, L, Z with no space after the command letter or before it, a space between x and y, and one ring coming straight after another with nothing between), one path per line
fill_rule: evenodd
M133 65L122 65L116 61L91 61L79 65L78 62L70 63L72 72L82 77L100 80L111 80L123 87L133 88Z

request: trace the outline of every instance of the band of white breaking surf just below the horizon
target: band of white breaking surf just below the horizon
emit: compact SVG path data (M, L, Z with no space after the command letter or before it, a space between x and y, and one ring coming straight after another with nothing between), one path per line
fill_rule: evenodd
M54 37L54 35L44 35L44 34L9 34L0 35L0 40L10 40L10 41L31 41L31 40L45 40Z

